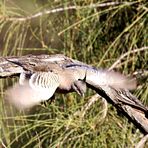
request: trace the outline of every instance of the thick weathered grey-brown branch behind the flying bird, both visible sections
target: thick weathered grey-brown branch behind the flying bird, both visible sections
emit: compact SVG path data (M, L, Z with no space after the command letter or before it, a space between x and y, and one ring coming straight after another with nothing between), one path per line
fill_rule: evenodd
M18 64L20 61L22 63L21 66ZM48 64L50 62L56 62L63 67L66 64L81 64L89 66L85 63L65 57L64 55L27 55L6 58L0 57L0 78L19 75L25 68L27 69L31 66L37 65L38 63ZM121 111L144 134L148 134L148 118L146 117L148 116L148 109L128 90L117 90L109 86L104 86L101 88L96 86L89 87L94 89L99 95L115 106L117 110ZM138 106L141 107L139 108Z

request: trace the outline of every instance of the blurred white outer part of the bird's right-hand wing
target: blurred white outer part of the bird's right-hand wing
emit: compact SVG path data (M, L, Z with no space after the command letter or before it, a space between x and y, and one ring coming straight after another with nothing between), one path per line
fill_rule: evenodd
M88 71L86 82L94 87L107 85L128 90L136 88L136 80L134 78L126 77L118 72L101 69Z

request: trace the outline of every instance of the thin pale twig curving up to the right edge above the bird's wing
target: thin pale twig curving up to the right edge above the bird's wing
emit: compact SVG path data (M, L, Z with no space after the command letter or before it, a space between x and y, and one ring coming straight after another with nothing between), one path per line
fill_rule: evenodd
M109 68L109 70L112 70L113 68L115 68L121 62L121 60L124 59L129 54L133 54L133 53L140 52L140 51L147 50L147 49L148 47L146 46L146 47L141 47L141 48L126 52L125 54L121 55L116 62L114 62L114 64Z

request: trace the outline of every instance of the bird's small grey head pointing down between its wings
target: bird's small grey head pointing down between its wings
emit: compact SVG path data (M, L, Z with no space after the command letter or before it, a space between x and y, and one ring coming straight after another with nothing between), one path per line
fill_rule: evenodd
M72 89L79 95L84 96L84 93L86 92L86 83L81 80L75 81L72 84Z

